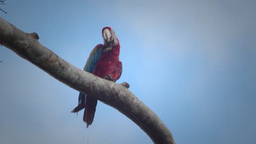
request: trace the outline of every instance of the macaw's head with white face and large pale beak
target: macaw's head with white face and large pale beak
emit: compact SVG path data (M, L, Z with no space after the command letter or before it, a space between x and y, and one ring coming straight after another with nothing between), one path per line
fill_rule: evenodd
M102 29L102 37L104 40L104 45L106 46L104 52L110 51L114 46L119 44L117 35L115 35L114 30L110 27L104 27Z

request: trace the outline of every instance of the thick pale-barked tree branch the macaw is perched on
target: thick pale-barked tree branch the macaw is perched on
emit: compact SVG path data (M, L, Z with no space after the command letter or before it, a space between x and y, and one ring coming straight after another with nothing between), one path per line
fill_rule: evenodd
M36 33L22 32L0 17L0 44L67 86L114 107L144 130L154 143L175 143L161 119L129 89L74 67L40 44L38 39Z

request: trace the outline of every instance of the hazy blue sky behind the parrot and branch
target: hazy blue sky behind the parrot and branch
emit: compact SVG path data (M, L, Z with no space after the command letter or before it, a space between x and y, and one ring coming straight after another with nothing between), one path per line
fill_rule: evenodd
M83 69L101 29L120 45L118 82L177 143L255 143L256 1L6 1L1 17ZM78 92L0 47L0 143L152 143L101 102L85 129Z

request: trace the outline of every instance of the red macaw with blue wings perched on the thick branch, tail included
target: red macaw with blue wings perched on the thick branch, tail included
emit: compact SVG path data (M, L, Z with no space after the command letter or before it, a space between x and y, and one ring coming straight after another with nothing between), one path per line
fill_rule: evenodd
M115 82L122 74L122 63L119 61L119 40L114 30L110 27L102 29L102 37L104 45L98 44L95 46L87 59L84 71ZM71 112L78 112L85 108L83 120L88 128L94 121L96 105L97 99L80 92L78 106Z

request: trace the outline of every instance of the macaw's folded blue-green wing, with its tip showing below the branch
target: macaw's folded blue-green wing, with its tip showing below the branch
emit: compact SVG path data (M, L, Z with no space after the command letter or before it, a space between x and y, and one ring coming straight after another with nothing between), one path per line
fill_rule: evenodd
M103 52L103 45L98 44L94 47L94 49L91 51L89 58L87 59L87 62L84 66L84 71L87 71L88 73L93 73L97 62L100 60L102 52ZM81 103L81 100L85 97L86 100L86 94L80 92L78 97L78 105Z

